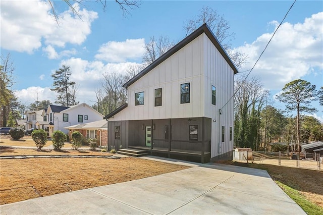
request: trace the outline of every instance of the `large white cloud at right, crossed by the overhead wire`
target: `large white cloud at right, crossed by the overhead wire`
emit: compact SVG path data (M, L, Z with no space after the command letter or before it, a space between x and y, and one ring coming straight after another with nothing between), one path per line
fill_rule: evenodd
M278 27L277 21L270 24ZM323 12L313 14L303 23L283 23L268 45L251 75L260 77L267 89L282 89L292 80L323 69ZM250 70L273 32L259 36L234 51L246 53L248 62L240 71Z

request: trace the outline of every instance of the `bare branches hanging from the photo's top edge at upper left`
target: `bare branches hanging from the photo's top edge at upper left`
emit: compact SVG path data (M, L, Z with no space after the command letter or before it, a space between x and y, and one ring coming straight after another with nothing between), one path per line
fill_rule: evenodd
M53 0L47 0L47 1L51 7L52 14L55 17L56 22L58 23L59 17L57 15L57 12L54 7L54 1ZM84 1L84 0L72 0L72 1L62 0L62 1L65 2L69 6L69 8L71 9L71 11L73 12L74 15L76 15L80 19L82 19L77 8L75 8L75 5L73 3L78 3L80 5L85 6L84 3L88 2L88 1ZM109 1L108 0L96 0L95 2L100 4L102 6L103 11L105 11L107 8L107 2L109 2ZM121 9L123 16L130 15L130 10L134 10L135 8L139 8L139 6L140 6L140 3L138 1L115 0L115 2L119 5L119 8Z

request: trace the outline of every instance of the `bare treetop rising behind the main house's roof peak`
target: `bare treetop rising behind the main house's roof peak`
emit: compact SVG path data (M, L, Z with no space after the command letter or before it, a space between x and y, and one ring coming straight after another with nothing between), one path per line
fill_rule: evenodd
M233 52L231 50L230 42L232 39L234 39L235 33L229 31L229 22L224 18L223 15L219 15L216 10L213 10L210 7L203 7L198 16L184 22L183 29L186 32L186 35L188 35L204 23L206 23L210 30L214 33L214 36L216 36L221 45L227 51L236 67L238 69L241 68L248 56L244 53Z

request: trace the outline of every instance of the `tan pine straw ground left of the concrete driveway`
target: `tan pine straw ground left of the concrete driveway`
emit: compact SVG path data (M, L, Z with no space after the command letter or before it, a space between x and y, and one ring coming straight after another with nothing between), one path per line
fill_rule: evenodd
M0 204L132 181L187 168L135 157L2 159Z

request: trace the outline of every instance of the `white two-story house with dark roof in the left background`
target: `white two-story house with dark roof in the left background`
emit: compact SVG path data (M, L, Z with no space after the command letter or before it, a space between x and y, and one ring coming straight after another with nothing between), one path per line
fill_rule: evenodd
M68 134L69 130L65 127L90 123L94 121L99 121L103 119L103 115L95 111L86 103L81 103L67 106L58 106L50 104L46 112L43 113L43 117L46 118L45 127L48 127L49 136L56 130L63 131ZM39 123L41 125L41 123Z

